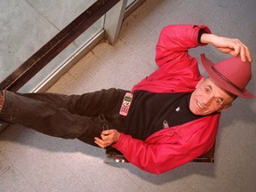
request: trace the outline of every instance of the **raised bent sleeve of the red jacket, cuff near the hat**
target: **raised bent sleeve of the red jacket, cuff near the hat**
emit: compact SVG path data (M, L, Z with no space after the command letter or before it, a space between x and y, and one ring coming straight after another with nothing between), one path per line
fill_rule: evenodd
M201 29L211 33L204 25L169 25L163 28L156 44L156 64L161 68L164 64L175 64L175 60L188 60L188 49L205 45L198 42Z

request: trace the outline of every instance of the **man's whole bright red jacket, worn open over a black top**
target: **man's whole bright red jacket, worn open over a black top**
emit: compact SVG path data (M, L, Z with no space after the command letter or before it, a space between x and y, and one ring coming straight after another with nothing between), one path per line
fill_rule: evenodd
M159 68L136 84L132 92L193 92L202 76L196 59L188 54L188 49L204 45L197 43L200 28L211 33L205 26L170 25L163 28L156 44L156 64ZM144 171L167 172L212 148L219 120L220 114L204 116L155 132L147 140L136 140L121 133L120 139L112 147Z

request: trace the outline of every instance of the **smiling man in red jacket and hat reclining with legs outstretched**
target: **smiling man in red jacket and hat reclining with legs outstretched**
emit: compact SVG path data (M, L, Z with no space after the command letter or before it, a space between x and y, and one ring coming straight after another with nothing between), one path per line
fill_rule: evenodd
M200 75L190 48L212 44L233 57L201 61ZM111 146L147 172L162 173L206 153L216 139L220 111L245 89L252 56L239 40L211 34L205 26L165 27L156 44L158 69L132 93L101 90L84 95L2 92L0 118L48 135Z

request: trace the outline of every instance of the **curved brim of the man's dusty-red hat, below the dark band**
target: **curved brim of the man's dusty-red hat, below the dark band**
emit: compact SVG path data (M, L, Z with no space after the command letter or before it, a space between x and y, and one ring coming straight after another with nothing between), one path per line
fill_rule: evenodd
M249 92L248 90L244 89L243 92L237 90L233 85L228 84L228 82L223 79L221 76L219 76L213 69L212 66L214 65L214 63L207 59L205 57L205 54L200 54L200 60L201 63L203 64L203 67L205 69L205 71L207 72L207 74L212 77L212 81L217 84L218 86L220 86L220 88L226 90L227 92L231 92L239 97L242 98L247 98L247 99L252 99L252 98L256 98L255 95L252 94L252 92Z

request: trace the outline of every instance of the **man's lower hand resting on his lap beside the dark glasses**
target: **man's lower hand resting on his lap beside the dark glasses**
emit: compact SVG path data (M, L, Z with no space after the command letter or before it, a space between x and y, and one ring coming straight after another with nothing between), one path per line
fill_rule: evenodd
M117 132L116 130L106 130L101 132L100 138L95 137L94 142L100 146L100 148L107 148L108 146L111 146L113 143L116 143L119 140L120 132Z

